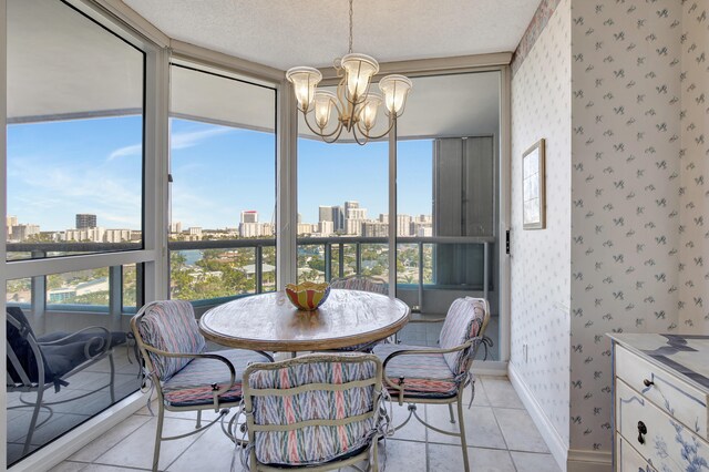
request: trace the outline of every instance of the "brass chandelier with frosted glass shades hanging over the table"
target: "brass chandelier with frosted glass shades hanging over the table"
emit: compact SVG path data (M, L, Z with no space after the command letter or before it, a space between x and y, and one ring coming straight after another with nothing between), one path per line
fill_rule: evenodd
M349 2L349 51L335 60L335 70L340 78L337 95L327 90L318 90L322 74L315 68L291 68L286 72L286 79L292 83L298 110L312 133L326 143L333 143L340 137L342 130L347 130L362 145L369 140L383 137L391 131L397 117L403 113L411 81L404 75L387 75L379 81L381 94L370 91L371 80L379 72L379 63L367 54L352 53L352 0ZM382 103L384 113L390 117L389 127L379 135L372 135ZM332 111L337 113L337 124L328 126Z

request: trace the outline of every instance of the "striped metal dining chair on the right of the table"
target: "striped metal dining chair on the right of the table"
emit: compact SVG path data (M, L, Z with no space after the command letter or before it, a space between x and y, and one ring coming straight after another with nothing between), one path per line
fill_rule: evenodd
M477 348L484 343L489 321L487 300L458 298L445 316L439 348L387 343L374 347L374 355L383 362L384 384L391 394L391 401L409 403L409 415L394 430L403 428L413 415L433 431L460 438L465 471L470 470L470 465L463 420L463 390L471 386L472 404L475 378L470 369ZM455 422L453 403L456 403L459 432L445 431L428 423L417 413L417 403L448 404L452 423Z

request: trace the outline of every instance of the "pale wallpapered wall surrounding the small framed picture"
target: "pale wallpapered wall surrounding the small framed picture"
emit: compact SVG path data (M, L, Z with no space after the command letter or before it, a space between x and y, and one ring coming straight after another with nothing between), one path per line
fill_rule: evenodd
M567 444L569 52L571 0L562 0L512 80L511 247L511 362ZM546 138L546 229L522 230L522 153L542 137Z

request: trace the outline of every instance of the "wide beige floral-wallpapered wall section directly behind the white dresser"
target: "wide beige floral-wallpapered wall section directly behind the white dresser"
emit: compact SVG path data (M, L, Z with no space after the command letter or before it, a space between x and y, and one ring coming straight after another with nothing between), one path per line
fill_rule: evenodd
M680 1L573 3L572 449L612 450L604 335L678 330L684 48Z

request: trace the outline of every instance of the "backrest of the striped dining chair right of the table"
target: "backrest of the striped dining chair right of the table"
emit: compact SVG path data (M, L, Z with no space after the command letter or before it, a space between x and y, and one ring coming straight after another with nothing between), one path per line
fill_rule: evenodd
M451 349L472 338L480 338L469 349L443 355L445 363L454 373L463 373L471 366L477 347L482 342L485 328L490 321L490 305L484 298L458 298L445 315L441 328L440 347Z

